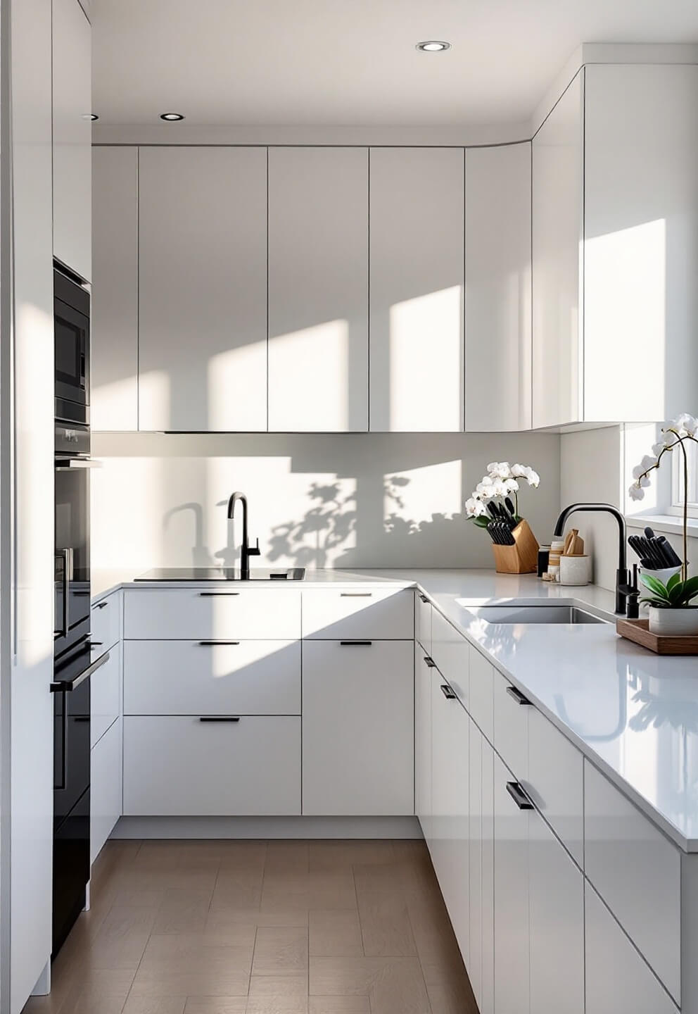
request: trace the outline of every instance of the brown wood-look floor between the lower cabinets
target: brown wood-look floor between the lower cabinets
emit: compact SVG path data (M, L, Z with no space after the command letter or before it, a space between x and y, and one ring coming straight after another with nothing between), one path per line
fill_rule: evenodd
M475 1014L421 842L110 842L25 1014Z

